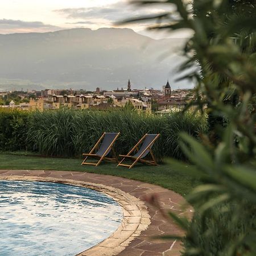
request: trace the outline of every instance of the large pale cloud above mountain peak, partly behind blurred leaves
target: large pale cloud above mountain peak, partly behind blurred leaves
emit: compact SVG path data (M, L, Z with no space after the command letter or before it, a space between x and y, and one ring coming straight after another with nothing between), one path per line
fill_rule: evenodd
M158 5L152 7L139 7L135 5L129 5L125 1L119 1L112 5L105 6L92 6L81 8L67 8L53 10L55 13L70 20L66 24L71 24L76 27L89 27L96 29L99 27L113 27L115 23L121 22L126 19L140 18L141 16L158 15L166 12L173 12L176 10L175 5ZM172 19L179 19L176 14L171 14ZM163 21L163 20L162 20ZM170 34L166 32L150 31L146 30L147 27L154 26L155 20L143 20L141 22L133 22L129 24L120 25L120 27L132 28L134 31L139 32L142 35L150 36L154 39L160 38L183 38L187 37L187 31L175 32ZM190 35L190 34L189 34Z

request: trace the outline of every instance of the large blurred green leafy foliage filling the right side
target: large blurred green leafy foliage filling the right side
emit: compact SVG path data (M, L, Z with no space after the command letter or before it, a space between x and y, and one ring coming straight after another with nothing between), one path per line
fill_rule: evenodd
M207 106L209 113L210 134L202 142L181 135L183 152L196 167L172 161L203 182L187 197L195 207L192 221L170 213L186 232L183 254L255 255L256 2L194 0L193 9L181 0L133 2L171 10L133 21L156 19L151 29L192 31L180 69L197 82L191 106Z

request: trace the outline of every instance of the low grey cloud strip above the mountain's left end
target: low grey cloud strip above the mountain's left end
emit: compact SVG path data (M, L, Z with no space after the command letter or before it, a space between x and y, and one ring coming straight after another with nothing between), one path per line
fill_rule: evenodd
M60 27L53 26L51 24L45 24L43 22L34 21L27 22L24 20L13 20L13 19L0 19L0 31L18 31L18 32L29 32L29 31L49 31L58 30Z

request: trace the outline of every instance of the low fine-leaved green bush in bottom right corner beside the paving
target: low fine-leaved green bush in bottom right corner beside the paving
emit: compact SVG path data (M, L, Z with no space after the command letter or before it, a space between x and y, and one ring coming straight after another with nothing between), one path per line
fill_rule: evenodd
M241 234L248 234L251 229L255 229L256 215L249 214L246 210L243 210L242 218L236 214L232 217L227 214L229 211L237 212L240 210L238 208L241 208L241 205L226 203L209 209L205 216L196 211L191 222L191 230L194 232L193 235L197 235L194 236L194 241L189 237L185 240L186 253L183 255L189 255L188 252L194 249L195 243L200 245L201 251L207 251L208 256L230 255L234 241L238 242L236 255L250 255L250 250L255 252L255 240L246 241L246 235L242 237ZM251 207L251 210L255 212L255 208ZM244 221L244 218L247 221ZM242 240L245 241L242 243ZM253 246L250 245L251 242Z

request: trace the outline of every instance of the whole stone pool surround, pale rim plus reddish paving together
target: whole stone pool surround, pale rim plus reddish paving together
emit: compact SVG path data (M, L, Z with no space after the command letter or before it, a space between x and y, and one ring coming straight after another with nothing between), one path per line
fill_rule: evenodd
M170 177L171 178L171 177ZM160 235L183 236L174 222L164 217L171 210L178 215L192 216L192 208L184 210L182 196L157 185L134 181L117 176L90 174L73 171L0 170L0 179L51 181L93 188L111 196L123 207L123 221L106 240L80 253L85 255L123 256L179 256L182 246L177 241L152 239ZM153 208L142 200L156 196L159 208Z

